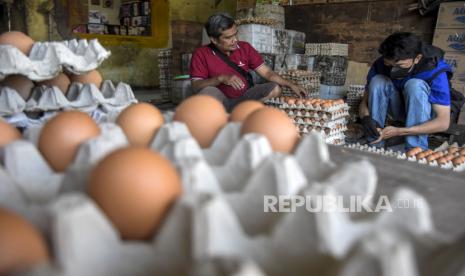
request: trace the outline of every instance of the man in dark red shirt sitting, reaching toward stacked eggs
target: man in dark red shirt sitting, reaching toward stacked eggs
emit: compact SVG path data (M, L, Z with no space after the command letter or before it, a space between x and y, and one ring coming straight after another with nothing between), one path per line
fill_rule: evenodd
M205 29L211 44L198 48L191 60L190 75L195 92L217 98L228 111L244 100L266 101L278 97L281 94L279 85L289 87L298 96L306 95L303 88L266 66L249 43L237 40L237 27L228 14L212 15ZM250 70L270 82L252 86L247 75Z

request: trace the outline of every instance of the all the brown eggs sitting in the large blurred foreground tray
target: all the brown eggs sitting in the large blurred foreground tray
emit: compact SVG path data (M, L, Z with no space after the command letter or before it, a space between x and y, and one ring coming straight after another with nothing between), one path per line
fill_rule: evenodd
M229 122L242 123L241 135L264 135L277 152L292 153L299 141L297 130L284 113L256 101L239 104L229 116L216 99L193 96L178 106L173 120L183 122L202 148L210 147ZM128 145L108 153L90 171L85 191L123 239L152 237L182 194L174 165L149 149L164 123L162 113L150 104L129 106L116 119ZM79 147L100 135L101 129L86 113L63 111L42 127L37 148L55 173L65 173ZM0 120L0 149L20 139L16 128ZM0 226L0 260L5 260L0 261L0 274L24 271L50 258L47 242L24 218L0 209ZM15 254L10 254L11 250Z

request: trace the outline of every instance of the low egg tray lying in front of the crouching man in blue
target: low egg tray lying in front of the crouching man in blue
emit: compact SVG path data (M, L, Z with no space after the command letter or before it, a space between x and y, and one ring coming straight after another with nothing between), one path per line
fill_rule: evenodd
M465 156L465 154L464 155L455 154L453 159L450 159L450 160L448 160L448 161L446 161L444 163L439 164L436 159L431 160L431 161L427 160L427 156L424 157L424 158L417 158L416 156L408 157L407 154L404 153L404 152L400 152L400 151L395 152L395 151L392 151L392 150L385 150L384 148L377 148L377 147L369 146L369 145L360 145L359 143L357 143L357 144L348 144L347 147L352 148L352 149L365 151L365 152L371 152L371 153L379 154L379 155L383 155L383 156L394 157L394 158L401 159L401 160L407 160L407 161L410 161L410 162L418 162L418 163L420 163L422 165L428 165L428 166L431 166L431 167L439 167L441 169L453 170L453 171L456 171L456 172L465 171L465 157L463 158L463 161L460 162L460 163L453 161L456 158L459 158L461 156ZM422 151L420 151L419 153L421 153L421 152ZM447 150L436 149L436 150L434 150L432 152L433 153L436 153L436 152L443 153L444 155L446 155L446 152L448 152L448 149Z

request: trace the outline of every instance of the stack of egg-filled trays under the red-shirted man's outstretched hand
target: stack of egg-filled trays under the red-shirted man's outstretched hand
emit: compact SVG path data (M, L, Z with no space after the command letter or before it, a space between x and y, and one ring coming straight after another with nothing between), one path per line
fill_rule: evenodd
M334 145L345 143L348 106L344 100L300 99L279 97L269 100L293 120L301 134L316 131Z

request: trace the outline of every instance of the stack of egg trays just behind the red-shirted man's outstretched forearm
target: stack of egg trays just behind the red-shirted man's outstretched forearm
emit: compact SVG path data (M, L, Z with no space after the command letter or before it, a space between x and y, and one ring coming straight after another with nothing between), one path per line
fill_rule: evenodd
M320 72L285 70L280 71L279 75L304 88L308 92L308 98L318 98L320 96ZM283 96L294 96L294 93L289 87L283 87Z

